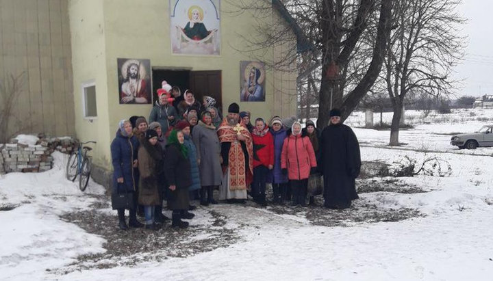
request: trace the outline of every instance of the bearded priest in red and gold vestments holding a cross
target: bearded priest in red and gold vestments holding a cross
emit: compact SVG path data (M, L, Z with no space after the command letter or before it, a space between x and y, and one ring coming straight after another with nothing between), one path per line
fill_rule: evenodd
M240 107L231 103L218 129L223 159L223 183L220 200L246 200L253 179L253 142L248 129L239 123Z

